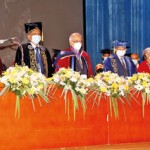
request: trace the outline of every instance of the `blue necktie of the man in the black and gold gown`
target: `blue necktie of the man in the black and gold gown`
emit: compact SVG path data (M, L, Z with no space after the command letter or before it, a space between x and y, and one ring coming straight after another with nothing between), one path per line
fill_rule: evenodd
M38 72L41 72L44 74L44 66L43 66L42 58L39 52L39 48L36 47L35 50L36 50L36 63L38 66Z

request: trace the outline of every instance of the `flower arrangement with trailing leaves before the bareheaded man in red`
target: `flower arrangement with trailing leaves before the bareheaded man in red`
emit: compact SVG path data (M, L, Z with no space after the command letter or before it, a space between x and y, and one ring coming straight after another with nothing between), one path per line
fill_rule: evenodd
M68 100L67 93L71 92L74 106L74 119L76 110L78 109L78 99L81 101L83 111L86 111L86 103L84 97L88 91L87 82L86 78L80 75L79 72L75 72L72 69L61 68L53 75L52 78L49 78L48 81L50 83L50 88L53 87L53 84L57 85L57 87L63 87L61 96L64 95L66 105ZM55 89L57 90L57 88Z

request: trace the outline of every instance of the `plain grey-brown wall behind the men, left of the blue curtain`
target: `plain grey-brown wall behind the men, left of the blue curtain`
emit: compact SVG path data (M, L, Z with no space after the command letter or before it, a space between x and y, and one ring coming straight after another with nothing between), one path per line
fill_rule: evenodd
M53 55L52 48L68 47L72 32L83 34L83 0L0 0L0 39L19 37L27 41L24 23L42 21L44 46ZM0 57L9 67L15 58L17 46L0 44Z

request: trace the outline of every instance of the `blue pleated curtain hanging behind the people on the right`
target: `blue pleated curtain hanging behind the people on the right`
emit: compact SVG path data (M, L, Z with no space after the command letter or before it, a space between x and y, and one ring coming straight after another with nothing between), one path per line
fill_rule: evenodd
M127 53L150 47L149 0L85 0L86 47L93 67L101 61L99 50L112 48L113 40L126 40Z

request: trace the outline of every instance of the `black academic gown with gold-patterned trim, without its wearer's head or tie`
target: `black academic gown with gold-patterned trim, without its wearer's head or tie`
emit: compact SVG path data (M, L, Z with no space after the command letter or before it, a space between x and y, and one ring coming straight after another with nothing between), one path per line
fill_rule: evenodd
M36 56L34 52L34 48L30 43L22 44L23 48L23 55L24 55L24 64L27 65L29 68L31 68L34 71L37 71L37 65L36 65ZM46 77L52 76L52 61L49 51L44 48L43 46L39 46L40 54L42 58L42 62L44 65L44 75ZM21 63L22 53L21 48L18 47L16 52L16 58L15 58L15 64L22 65Z

